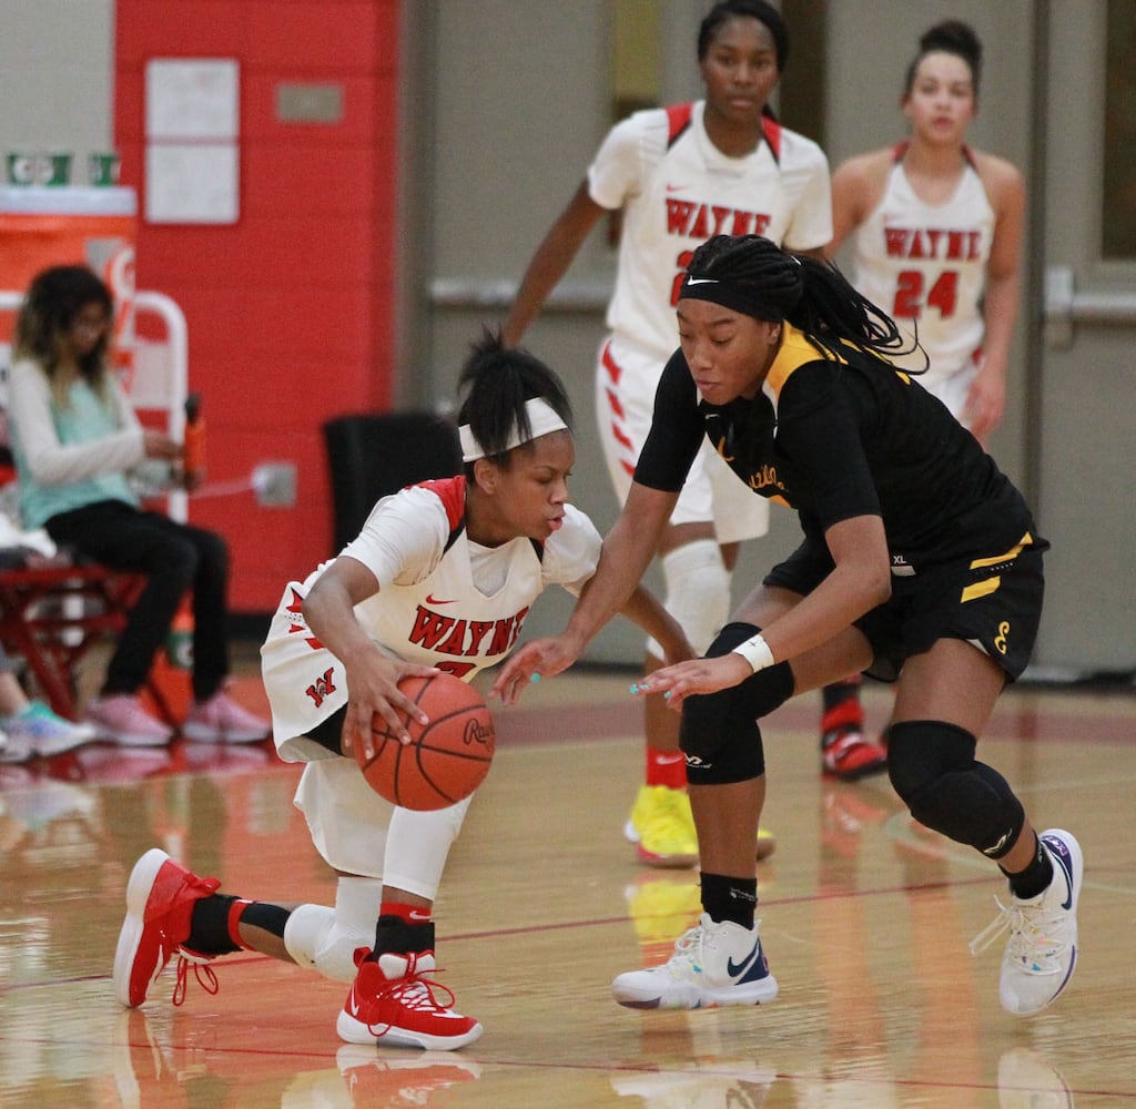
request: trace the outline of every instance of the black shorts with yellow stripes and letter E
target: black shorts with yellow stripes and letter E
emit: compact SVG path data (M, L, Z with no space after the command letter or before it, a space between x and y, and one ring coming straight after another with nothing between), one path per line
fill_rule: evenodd
M1033 538L1010 552L893 577L891 599L854 621L874 655L864 673L895 681L911 655L930 650L939 639L962 639L989 655L1008 681L1020 678L1037 639L1047 548L1044 539ZM807 539L774 566L765 585L804 596L833 569L828 547Z

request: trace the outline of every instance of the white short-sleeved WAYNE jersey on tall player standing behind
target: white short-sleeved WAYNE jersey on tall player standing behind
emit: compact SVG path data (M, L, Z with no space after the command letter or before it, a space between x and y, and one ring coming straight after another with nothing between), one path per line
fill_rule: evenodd
M696 246L757 234L807 251L833 237L821 149L767 118L757 150L729 158L705 133L704 107L635 112L608 133L587 171L592 200L624 210L608 327L660 362L678 346L676 293Z

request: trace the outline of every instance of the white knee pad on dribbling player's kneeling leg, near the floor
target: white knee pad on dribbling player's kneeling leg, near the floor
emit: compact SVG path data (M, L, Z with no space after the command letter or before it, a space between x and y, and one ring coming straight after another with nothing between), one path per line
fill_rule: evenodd
M351 982L356 976L356 948L375 946L375 925L383 883L375 879L341 877L335 908L301 905L284 925L284 947L298 966L318 971L325 978Z

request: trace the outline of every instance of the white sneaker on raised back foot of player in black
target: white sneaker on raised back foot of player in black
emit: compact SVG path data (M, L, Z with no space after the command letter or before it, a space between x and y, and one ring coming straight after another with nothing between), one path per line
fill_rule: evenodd
M1077 899L1085 869L1080 845L1059 827L1038 839L1053 863L1053 881L1037 897L999 901L997 919L970 944L977 955L1000 933L1010 932L999 995L1006 1013L1021 1017L1052 1005L1077 965Z

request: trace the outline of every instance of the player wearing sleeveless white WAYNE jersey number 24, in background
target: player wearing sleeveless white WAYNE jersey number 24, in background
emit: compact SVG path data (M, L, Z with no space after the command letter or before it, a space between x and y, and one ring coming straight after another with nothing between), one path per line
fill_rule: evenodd
M918 331L919 384L985 442L1005 411L1026 195L1010 162L966 144L980 73L967 24L922 35L901 100L911 136L837 169L832 251L854 235L855 287Z

